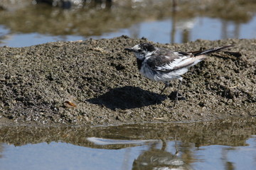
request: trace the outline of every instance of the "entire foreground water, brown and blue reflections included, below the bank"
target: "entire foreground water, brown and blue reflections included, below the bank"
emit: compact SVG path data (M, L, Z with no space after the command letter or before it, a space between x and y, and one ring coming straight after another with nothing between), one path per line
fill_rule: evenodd
M1 128L0 169L255 169L255 120Z

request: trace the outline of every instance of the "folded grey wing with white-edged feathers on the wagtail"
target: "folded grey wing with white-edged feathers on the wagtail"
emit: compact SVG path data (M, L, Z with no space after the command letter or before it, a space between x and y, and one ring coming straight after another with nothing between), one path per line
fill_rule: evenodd
M185 54L183 52L161 50L161 52L156 52L151 55L145 62L154 71L167 73L184 67L191 67L194 64L201 62L204 58L206 58L205 55L193 57L191 53Z

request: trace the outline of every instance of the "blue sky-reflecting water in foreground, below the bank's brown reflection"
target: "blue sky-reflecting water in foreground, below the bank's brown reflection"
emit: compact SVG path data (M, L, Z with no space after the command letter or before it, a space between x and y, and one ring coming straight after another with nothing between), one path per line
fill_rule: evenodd
M132 141L131 141L132 142ZM121 149L80 147L65 142L42 142L21 147L2 144L1 169L254 169L256 136L247 146L210 145L161 140ZM100 147L101 145L99 145ZM178 154L176 154L176 147ZM15 163L14 163L15 162ZM22 168L21 168L22 167Z

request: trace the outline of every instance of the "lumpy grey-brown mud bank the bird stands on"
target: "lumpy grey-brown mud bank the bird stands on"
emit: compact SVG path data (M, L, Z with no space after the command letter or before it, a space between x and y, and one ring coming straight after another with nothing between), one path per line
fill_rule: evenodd
M155 44L181 51L235 44L184 75L186 100L175 108L178 81L159 96L164 84L142 77L136 58L123 50L139 42L147 40L119 37L1 47L1 124L112 125L255 116L255 39Z

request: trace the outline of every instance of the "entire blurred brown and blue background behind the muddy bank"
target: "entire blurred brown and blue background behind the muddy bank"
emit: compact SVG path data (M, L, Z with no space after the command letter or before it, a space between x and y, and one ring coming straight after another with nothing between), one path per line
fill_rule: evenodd
M256 0L1 0L0 45L88 38L256 38Z

